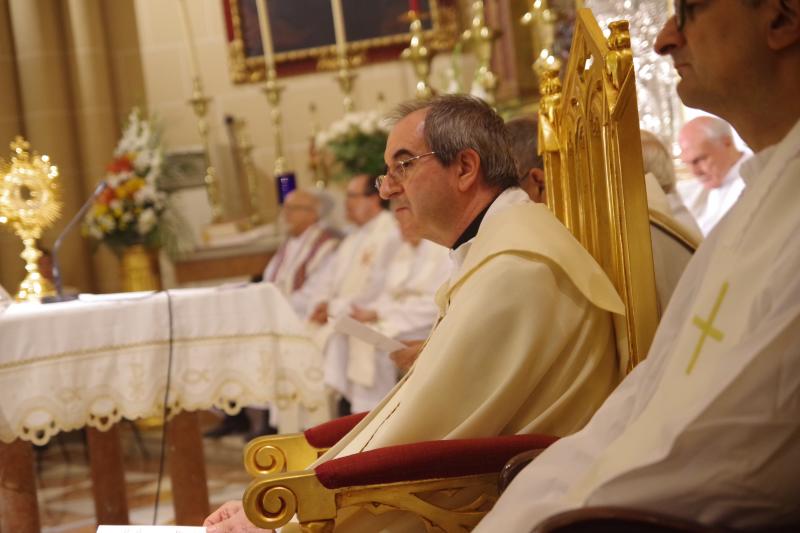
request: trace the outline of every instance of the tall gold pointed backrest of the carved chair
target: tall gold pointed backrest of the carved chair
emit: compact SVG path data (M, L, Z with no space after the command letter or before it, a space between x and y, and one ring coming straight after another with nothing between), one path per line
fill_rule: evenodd
M627 21L606 39L578 12L563 89L542 75L539 150L547 203L606 271L625 303L617 345L630 370L658 324L653 254Z

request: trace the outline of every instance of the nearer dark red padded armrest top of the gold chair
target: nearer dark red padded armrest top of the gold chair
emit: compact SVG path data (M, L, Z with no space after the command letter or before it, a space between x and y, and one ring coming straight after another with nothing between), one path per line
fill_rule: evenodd
M507 435L388 446L332 459L314 471L329 489L376 483L500 473L514 455L546 448L558 437Z

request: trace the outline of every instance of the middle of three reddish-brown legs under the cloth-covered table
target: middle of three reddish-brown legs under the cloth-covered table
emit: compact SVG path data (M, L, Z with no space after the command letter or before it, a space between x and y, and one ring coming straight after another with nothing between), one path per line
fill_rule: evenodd
M92 471L92 494L98 524L127 525L128 500L125 494L125 467L119 426L108 431L86 428L89 465Z

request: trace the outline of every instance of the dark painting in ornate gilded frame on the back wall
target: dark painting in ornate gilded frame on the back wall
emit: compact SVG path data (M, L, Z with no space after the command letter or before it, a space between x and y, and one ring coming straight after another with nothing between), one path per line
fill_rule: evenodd
M234 83L263 81L264 52L256 1L223 0L228 57ZM408 33L407 0L342 0L347 51L353 66L400 57ZM457 0L421 0L425 37L433 50L449 50L459 35ZM278 76L332 69L336 39L330 0L267 3Z

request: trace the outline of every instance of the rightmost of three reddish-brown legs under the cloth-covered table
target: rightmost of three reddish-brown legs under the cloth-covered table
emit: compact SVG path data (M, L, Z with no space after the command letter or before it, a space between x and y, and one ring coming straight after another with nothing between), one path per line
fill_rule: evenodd
M175 523L200 526L210 509L203 438L197 413L183 412L169 421L167 445Z

